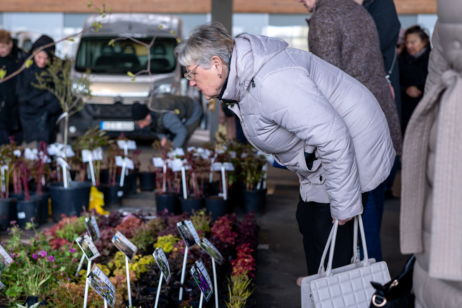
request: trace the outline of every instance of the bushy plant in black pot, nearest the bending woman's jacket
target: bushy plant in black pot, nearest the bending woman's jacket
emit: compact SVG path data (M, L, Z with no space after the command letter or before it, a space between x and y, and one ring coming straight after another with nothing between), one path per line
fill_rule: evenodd
M244 156L244 155L243 155ZM266 158L259 155L255 150L245 153L241 156L241 168L245 190L243 193L244 212L255 211L261 214L266 201L266 189L262 189L265 171L263 166L266 165Z

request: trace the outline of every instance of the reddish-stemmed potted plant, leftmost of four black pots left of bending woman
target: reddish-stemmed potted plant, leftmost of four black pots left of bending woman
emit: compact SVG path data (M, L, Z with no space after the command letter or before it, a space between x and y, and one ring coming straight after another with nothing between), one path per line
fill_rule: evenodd
M179 174L179 172L173 172L172 169L170 169L168 166L168 161L170 159L168 153L171 150L172 144L169 141L166 141L164 144L162 144L159 140L156 140L152 144L152 147L160 152L162 162L165 165L165 168L155 168L152 165L152 167L155 168L157 172L157 176L155 177L157 212L159 213L164 210L167 210L170 213L179 212L177 211L177 208L179 208L178 194L180 193L181 174Z

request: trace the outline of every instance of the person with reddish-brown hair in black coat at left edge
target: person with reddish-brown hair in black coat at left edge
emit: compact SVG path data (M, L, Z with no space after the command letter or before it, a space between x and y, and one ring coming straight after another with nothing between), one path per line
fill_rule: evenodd
M0 30L0 69L6 76L17 71L22 64L21 50L13 44L11 35ZM0 84L0 145L9 142L8 137L19 130L19 109L16 97L16 77ZM19 143L22 140L16 139Z

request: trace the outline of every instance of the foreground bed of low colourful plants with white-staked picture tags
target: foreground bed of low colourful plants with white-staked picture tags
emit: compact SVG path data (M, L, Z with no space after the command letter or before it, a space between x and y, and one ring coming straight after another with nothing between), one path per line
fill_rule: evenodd
M191 233L195 229L197 238L185 232L182 224L188 225ZM32 230L35 232L29 240L21 239L32 234ZM11 238L1 242L0 248L0 306L126 307L130 301L132 306L154 307L159 290L158 307L199 307L204 290L201 287L201 292L194 282L190 269L203 264L202 272L207 272L213 281L215 266L211 258L214 253L204 249L201 244L204 241L217 251L222 262L216 263L218 293L213 287L212 296L209 295L208 302L204 297L202 307L215 307L214 293L218 295L219 307L255 306L251 298L258 233L254 213L242 220L232 214L212 222L212 217L204 211L174 215L165 210L148 217L141 212L124 217L117 212L99 215L96 211L85 211L80 217L63 215L61 221L43 231L36 231L33 223L26 223L21 229L14 221L8 231ZM128 242L128 246L117 242L119 238ZM128 248L131 245L134 245L132 250ZM161 271L153 256L155 250L165 253L170 269L170 281L166 284L164 277L160 289ZM92 270L89 278L87 263L91 263ZM108 284L114 286L114 302L105 303L106 298L99 296L92 284L85 292L87 279L96 279L95 271L109 278Z

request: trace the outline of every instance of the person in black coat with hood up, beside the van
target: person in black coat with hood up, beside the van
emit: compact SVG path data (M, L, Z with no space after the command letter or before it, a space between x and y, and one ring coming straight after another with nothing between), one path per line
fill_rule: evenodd
M49 36L41 36L32 45L31 52L53 42ZM34 63L18 76L17 94L24 139L27 143L36 140L54 143L56 140L56 120L62 112L55 95L47 90L39 90L31 83L37 84L36 73L40 75L46 70L49 61L53 60L55 46L43 49L34 56Z

